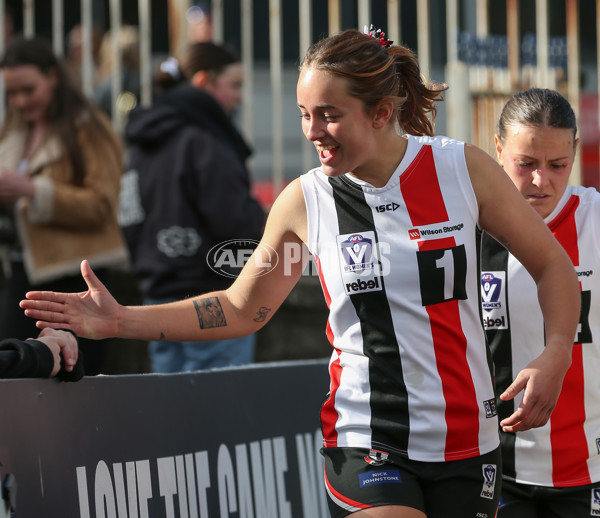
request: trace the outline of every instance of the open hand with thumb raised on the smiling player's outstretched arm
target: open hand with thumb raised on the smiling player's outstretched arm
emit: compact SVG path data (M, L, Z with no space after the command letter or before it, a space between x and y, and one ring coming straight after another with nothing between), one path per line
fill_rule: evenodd
M30 291L19 306L25 315L37 320L36 326L41 329L70 329L78 336L94 339L117 336L120 304L86 260L81 263L81 275L88 291Z

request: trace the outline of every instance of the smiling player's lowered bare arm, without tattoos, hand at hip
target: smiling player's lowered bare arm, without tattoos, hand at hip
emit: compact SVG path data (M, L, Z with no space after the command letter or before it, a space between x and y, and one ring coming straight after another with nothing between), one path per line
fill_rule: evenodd
M479 202L480 226L531 274L544 316L543 353L500 395L512 399L525 390L519 408L501 425L505 431L527 430L549 419L571 364L581 302L577 275L564 249L502 168L473 146L467 146L465 155Z

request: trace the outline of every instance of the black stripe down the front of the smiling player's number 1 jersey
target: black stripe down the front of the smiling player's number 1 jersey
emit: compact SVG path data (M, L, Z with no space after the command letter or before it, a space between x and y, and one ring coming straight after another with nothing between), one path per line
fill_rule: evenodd
M371 208L361 188L343 177L329 178L339 222L339 233L377 231ZM373 447L408 450L408 394L402 374L398 342L385 284L382 290L350 295L360 320L363 350L369 358L371 428Z

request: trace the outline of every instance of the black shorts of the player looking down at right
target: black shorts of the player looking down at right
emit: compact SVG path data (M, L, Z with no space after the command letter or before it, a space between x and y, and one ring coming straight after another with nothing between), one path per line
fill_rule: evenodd
M545 487L502 481L498 518L589 518L600 516L600 482Z

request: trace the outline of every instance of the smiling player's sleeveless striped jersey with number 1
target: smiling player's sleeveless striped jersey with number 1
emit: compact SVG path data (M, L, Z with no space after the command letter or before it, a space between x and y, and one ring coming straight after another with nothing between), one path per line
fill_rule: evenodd
M301 182L334 349L325 446L421 461L498 447L464 144L409 136L382 188L320 168Z

